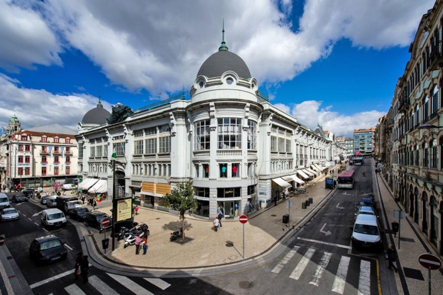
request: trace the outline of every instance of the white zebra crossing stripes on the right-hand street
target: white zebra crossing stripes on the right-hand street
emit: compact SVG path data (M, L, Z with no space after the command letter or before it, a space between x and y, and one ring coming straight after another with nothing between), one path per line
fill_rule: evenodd
M317 249L308 248L306 252L299 258L295 268L291 271L290 267L292 260L295 260L294 256L296 253L301 255L301 248L299 246L294 246L286 255L275 265L272 269L272 273L281 274L290 272L289 277L294 280L300 280L302 276L311 276L309 284L314 286L319 286L321 280L324 276L325 270L331 271L333 266L328 268L330 265L330 260L333 257L333 253L324 252L320 253L322 256L318 262L313 262L313 256L316 254ZM317 253L318 254L318 253ZM358 276L358 295L371 294L371 261L364 260L362 258L356 258L359 260L359 276ZM308 265L311 263L316 263L317 267L314 272L305 273ZM346 279L348 278L348 270L351 262L351 257L341 256L338 267L335 269L334 282L331 286L331 291L343 294L346 287ZM303 277L304 278L304 277Z

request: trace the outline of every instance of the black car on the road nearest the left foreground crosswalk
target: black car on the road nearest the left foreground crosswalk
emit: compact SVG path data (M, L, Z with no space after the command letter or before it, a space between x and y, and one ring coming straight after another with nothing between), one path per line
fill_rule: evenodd
M31 242L29 255L38 264L63 260L68 255L64 243L55 235L45 235Z

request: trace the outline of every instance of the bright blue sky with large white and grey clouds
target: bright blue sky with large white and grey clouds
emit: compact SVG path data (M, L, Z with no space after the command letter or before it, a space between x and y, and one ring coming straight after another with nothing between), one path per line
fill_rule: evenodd
M358 3L358 4L357 4ZM0 0L0 126L186 94L225 19L272 104L336 135L375 127L432 0Z

